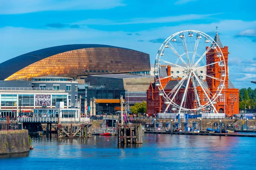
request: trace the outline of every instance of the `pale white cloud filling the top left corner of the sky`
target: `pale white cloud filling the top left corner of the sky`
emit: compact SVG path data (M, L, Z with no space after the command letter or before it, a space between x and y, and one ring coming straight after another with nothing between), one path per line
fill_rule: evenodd
M122 3L122 0L2 0L0 2L0 14L109 9L118 6L125 6L125 4Z

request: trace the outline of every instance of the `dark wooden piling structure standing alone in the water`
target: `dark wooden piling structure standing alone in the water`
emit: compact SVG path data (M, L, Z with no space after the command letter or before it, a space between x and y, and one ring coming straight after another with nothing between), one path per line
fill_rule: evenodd
M141 124L127 124L118 125L118 144L142 144L142 125Z

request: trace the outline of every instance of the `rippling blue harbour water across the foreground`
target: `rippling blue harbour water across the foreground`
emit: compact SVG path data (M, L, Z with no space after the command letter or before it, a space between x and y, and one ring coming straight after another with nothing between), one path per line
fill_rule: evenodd
M32 136L34 150L19 161L40 169L253 169L254 140L248 137L144 134L143 144L117 144L117 136L57 139ZM239 156L238 156L239 155ZM252 158L252 159L248 159ZM2 158L6 159L6 158ZM76 161L76 166L68 162ZM32 162L27 165L27 162ZM47 162L47 164L46 164ZM8 164L8 166L6 165ZM126 166L126 164L129 164ZM124 166L125 165L125 166ZM17 169L9 159L0 169Z

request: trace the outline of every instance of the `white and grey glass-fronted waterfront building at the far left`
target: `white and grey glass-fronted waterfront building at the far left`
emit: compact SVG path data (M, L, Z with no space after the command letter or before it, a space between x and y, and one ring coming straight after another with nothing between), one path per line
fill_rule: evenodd
M69 77L35 77L32 81L0 81L0 115L29 115L33 109L77 108L78 82ZM19 114L20 113L20 114Z

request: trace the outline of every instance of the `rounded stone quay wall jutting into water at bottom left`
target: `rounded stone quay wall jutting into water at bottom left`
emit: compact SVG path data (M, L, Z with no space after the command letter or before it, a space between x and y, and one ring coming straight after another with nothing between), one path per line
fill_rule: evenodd
M0 131L0 154L29 151L28 130Z

